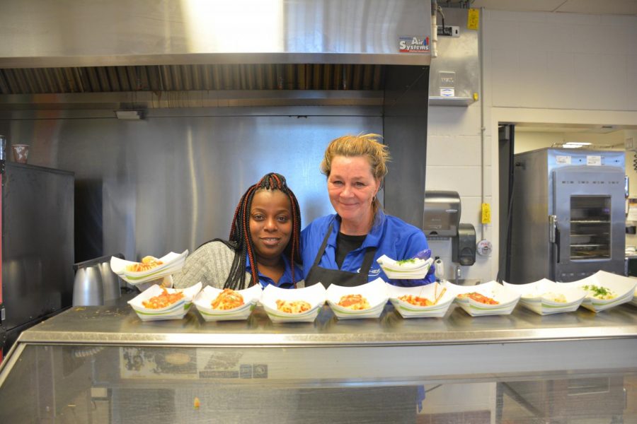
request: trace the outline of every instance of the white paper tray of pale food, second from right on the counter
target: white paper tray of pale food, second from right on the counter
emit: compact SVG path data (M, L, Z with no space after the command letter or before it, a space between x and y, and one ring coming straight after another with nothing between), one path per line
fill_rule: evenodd
M586 297L586 292L579 287L555 283L546 278L528 284L505 282L504 286L521 295L522 306L540 315L573 312Z

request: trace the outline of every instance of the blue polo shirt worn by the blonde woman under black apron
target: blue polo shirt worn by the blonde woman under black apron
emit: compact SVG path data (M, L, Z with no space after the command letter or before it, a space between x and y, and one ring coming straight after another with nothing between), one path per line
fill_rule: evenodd
M411 259L420 251L429 249L425 234L411 224L406 223L395 216L385 215L383 211L378 211L377 221L369 230L362 245L348 255L343 260L341 271L358 272L362 265L365 249L376 247L374 261L369 269L367 281L373 281L380 277L384 281L394 285L405 287L413 285L423 285L435 281L435 276L428 275L424 280L390 280L387 278L380 265L376 261L386 254L391 259ZM340 229L340 217L338 215L328 215L316 218L301 232L301 257L304 264L304 278L309 273L314 264L316 254L319 253L323 238L330 225L333 225L332 232L328 238L325 252L319 261L319 266L326 269L338 269L336 264L336 236Z

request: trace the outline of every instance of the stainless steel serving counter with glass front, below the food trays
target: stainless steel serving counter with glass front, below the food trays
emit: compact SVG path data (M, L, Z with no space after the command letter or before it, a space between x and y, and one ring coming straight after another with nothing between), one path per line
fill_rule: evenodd
M3 423L626 422L637 418L637 314L273 324L142 322L74 307L27 331L0 367ZM524 421L527 420L527 421ZM569 421L573 420L573 421Z

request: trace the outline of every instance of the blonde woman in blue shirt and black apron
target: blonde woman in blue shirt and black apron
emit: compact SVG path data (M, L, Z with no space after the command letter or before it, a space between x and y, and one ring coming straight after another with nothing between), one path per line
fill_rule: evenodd
M378 277L396 285L434 281L390 281L377 259L411 259L428 251L425 234L386 215L377 199L387 174L389 148L378 134L343 136L331 141L321 162L335 214L317 218L301 233L305 285L354 286Z

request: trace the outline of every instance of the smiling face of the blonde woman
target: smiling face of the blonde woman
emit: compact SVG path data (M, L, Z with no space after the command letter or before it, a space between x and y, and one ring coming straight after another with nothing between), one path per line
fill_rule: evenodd
M335 156L332 159L328 193L334 210L342 219L342 229L367 233L372 225L372 201L379 188L380 182L374 178L372 166L365 156Z

